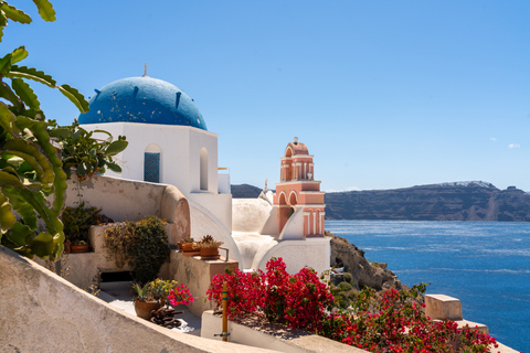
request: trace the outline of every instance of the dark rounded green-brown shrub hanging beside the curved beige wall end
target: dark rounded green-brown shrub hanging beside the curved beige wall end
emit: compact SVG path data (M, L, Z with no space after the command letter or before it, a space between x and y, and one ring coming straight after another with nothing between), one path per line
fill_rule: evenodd
M116 265L128 264L135 280L153 280L163 263L169 259L168 235L163 221L147 216L138 222L126 222L105 232L105 247Z

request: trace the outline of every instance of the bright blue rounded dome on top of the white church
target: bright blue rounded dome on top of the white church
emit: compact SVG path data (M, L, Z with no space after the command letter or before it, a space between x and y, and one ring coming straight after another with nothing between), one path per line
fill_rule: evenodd
M148 76L115 81L89 99L80 124L144 122L191 126L208 130L191 98L178 87Z

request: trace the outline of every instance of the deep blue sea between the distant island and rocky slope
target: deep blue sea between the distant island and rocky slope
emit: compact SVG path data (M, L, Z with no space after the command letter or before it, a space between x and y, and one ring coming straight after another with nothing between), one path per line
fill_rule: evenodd
M464 319L530 352L530 223L326 221L407 286L462 301Z

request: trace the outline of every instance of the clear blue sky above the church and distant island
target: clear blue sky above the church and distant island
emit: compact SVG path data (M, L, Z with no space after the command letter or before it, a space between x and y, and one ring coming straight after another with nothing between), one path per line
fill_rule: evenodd
M530 1L52 2L47 23L17 1L34 22L10 23L2 53L25 44L86 97L147 63L194 98L232 183L273 186L297 136L326 191L530 191ZM77 117L38 93L47 118Z

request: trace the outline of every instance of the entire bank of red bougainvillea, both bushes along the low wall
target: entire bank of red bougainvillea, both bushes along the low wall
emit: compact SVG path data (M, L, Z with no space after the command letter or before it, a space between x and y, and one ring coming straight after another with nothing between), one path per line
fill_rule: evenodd
M242 272L227 269L212 279L206 295L222 302L222 285L227 284L229 318L257 314L272 322L304 329L370 352L489 352L494 338L454 321L433 322L424 306L413 300L425 285L410 291L389 289L380 302L373 289L364 289L351 303L354 314L331 312L333 297L316 272L304 268L292 276L282 258L267 263L267 271Z

